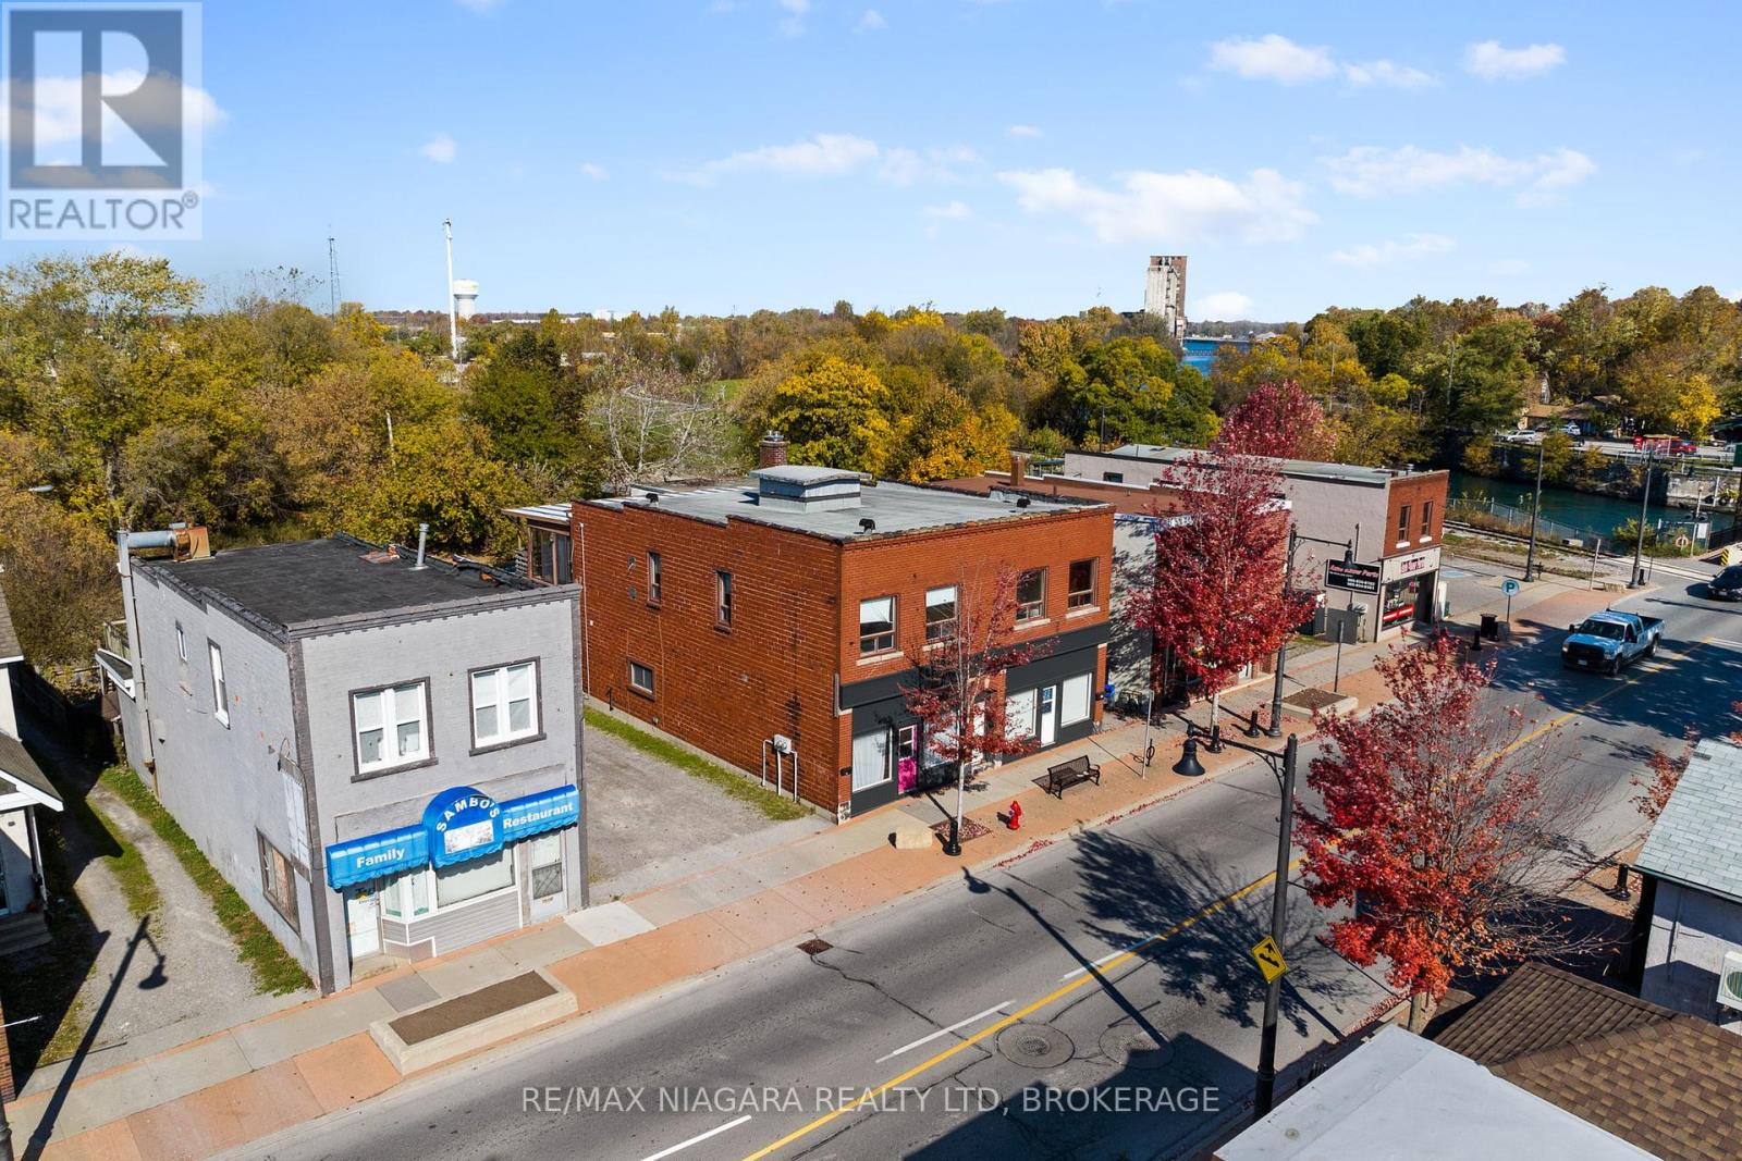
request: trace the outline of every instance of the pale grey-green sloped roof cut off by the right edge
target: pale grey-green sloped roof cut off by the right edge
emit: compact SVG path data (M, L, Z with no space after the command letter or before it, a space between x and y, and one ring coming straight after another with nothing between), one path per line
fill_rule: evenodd
M1693 747L1634 867L1742 903L1742 747Z

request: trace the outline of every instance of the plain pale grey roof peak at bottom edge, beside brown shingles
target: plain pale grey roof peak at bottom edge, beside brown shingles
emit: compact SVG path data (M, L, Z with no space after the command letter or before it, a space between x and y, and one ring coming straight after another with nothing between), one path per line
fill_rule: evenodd
M1397 1025L1380 1029L1216 1149L1219 1161L1395 1156L1637 1161L1651 1154Z

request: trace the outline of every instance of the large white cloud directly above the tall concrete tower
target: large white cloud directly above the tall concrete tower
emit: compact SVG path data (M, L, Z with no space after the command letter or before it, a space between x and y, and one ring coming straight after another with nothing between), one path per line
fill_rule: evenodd
M1254 169L1246 181L1188 169L1178 174L1131 172L1108 190L1070 169L1009 171L998 179L1016 190L1031 214L1068 214L1094 230L1101 242L1186 244L1233 237L1244 242L1298 238L1319 221L1303 204L1303 186L1273 169Z

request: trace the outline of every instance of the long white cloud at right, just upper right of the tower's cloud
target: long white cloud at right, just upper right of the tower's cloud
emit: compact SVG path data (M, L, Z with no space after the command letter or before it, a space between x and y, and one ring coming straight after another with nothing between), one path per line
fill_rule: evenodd
M1489 148L1460 146L1437 153L1406 144L1387 150L1355 146L1343 157L1327 157L1331 185L1355 197L1418 193L1458 185L1517 188L1521 204L1542 204L1552 191L1578 185L1597 172L1597 164L1578 150L1559 148L1535 157L1505 157Z

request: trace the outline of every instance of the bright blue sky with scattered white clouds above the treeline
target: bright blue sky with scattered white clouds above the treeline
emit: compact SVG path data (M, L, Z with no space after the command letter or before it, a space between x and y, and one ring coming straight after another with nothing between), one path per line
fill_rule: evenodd
M481 310L1132 310L1150 252L1192 256L1193 317L1735 296L1739 33L1721 3L211 0L206 237L159 251L324 275L331 230L381 308L442 306L444 216Z

